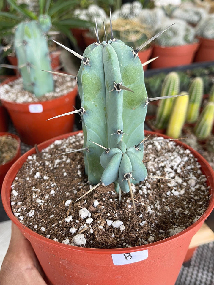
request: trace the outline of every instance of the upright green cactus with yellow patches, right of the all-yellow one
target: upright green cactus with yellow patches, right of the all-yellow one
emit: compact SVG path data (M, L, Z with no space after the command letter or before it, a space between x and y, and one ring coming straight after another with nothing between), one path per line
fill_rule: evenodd
M204 83L201 77L196 77L191 83L189 90L189 105L187 109L188 123L195 123L199 117L200 106L204 94Z

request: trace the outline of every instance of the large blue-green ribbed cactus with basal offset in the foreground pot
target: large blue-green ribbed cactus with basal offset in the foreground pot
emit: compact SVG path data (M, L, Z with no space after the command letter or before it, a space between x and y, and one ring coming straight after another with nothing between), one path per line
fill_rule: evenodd
M77 75L85 172L92 184L114 182L124 192L143 181L147 92L141 61L120 40L89 45ZM98 145L97 145L98 144ZM103 149L102 147L105 149Z

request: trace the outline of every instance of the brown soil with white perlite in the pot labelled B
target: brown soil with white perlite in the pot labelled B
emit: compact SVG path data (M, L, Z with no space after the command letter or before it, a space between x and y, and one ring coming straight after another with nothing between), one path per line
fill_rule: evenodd
M200 165L189 150L156 138L144 144L148 178L119 195L114 185L92 186L84 175L83 134L56 140L40 156L29 156L12 184L17 219L47 238L87 248L125 248L170 237L197 221L209 203ZM173 178L151 178L149 175Z

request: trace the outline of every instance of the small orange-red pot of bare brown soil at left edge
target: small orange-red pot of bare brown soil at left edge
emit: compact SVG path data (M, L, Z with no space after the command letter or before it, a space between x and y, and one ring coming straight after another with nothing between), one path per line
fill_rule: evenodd
M19 158L19 156L21 155L21 150L20 150L20 138L18 136L16 136L15 134L10 134L7 132L0 132L0 136L11 136L13 138L15 138L18 141L18 148L17 148L17 152L16 155L7 163L5 164L1 164L0 165L0 193L1 193L1 186L4 180L4 177L7 173L7 171L10 169L10 167L12 166L12 164Z

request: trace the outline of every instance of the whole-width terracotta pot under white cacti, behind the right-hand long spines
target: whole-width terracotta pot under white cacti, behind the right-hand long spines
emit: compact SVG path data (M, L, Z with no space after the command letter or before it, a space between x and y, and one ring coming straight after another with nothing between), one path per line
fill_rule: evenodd
M151 62L151 68L165 68L179 65L187 65L193 62L199 43L181 45L177 47L161 47L154 45L152 58L159 56Z

